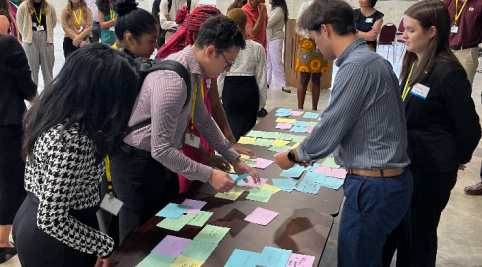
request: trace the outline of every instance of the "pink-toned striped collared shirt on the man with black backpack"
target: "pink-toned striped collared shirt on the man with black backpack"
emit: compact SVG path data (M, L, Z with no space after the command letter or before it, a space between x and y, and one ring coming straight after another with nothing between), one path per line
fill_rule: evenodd
M196 106L194 124L208 143L229 162L240 155L231 147L228 140L219 131L206 109L201 93L201 78L205 76L191 49L168 56L186 67L192 74L191 96L183 79L174 71L161 70L147 75L137 97L129 120L129 126L151 118L152 124L132 132L124 142L128 145L150 151L152 157L173 172L182 174L191 180L207 181L212 168L195 162L179 149L184 147L184 136L191 115L191 105L196 87ZM183 108L185 99L189 104Z

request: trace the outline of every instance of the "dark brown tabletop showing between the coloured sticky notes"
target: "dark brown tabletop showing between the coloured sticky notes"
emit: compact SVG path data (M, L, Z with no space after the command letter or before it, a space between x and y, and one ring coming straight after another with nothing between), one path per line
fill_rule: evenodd
M289 130L275 129L276 109L261 120L253 130L290 133ZM303 117L292 118L316 121ZM300 133L293 134L300 135ZM268 151L267 147L243 146L253 150L258 157L274 160L275 153ZM265 170L257 169L257 171L260 177L268 178L269 184L272 184L271 178L284 178L279 176L281 169L275 163ZM300 178L300 180L302 179ZM203 264L208 267L224 266L234 249L260 253L265 246L315 256L315 266L317 266L333 225L333 216L338 214L343 200L342 188L333 190L325 187L321 187L317 195L296 190L291 193L280 191L271 196L268 203L246 200L248 191L244 192L236 201L216 198L215 194L216 191L209 184L194 183L189 192L181 194L178 199L172 201L182 203L186 198L206 201L207 204L202 210L214 213L207 224L230 228L229 233ZM279 215L267 226L244 221L246 216L257 207L276 211ZM187 225L181 231L175 232L157 227L156 225L163 219L156 216L151 218L119 246L114 252L115 266L136 266L166 235L193 239L202 229L202 227Z

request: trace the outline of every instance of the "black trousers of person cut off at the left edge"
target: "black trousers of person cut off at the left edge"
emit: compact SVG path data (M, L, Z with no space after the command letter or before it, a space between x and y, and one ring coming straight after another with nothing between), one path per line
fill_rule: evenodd
M0 225L11 225L27 196L24 189L25 163L22 149L22 126L0 126Z

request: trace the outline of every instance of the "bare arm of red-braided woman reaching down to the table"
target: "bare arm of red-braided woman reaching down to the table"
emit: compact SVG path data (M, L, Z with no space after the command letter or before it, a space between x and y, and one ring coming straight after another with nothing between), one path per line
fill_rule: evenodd
M264 53L264 52L263 52ZM216 82L211 83L211 89L208 93L209 100L211 100L212 116L219 129L223 133L224 137L228 139L229 143L239 154L245 154L250 157L256 158L256 155L250 149L244 148L237 143L236 138L234 138L231 127L229 127L228 120L226 119L226 113L224 113L223 105L219 98L218 85Z

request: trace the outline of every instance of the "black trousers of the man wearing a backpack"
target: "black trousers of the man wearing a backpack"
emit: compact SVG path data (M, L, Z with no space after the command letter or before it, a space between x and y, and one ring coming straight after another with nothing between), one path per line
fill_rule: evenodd
M152 157L116 149L111 156L112 184L124 205L119 212L120 243L179 195L177 173Z

